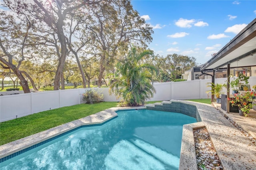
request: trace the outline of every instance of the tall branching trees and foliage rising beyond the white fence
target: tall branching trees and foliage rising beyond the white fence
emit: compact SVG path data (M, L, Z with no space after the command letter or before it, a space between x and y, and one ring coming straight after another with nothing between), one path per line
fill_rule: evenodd
M92 79L112 78L132 45L140 51L152 42L152 27L130 0L3 2L0 76L19 79L24 93L30 93L28 82L34 90L52 84L54 90L64 89L65 82L90 87ZM154 81L163 82L196 65L194 57L178 54L145 55L138 62L154 65L160 72Z

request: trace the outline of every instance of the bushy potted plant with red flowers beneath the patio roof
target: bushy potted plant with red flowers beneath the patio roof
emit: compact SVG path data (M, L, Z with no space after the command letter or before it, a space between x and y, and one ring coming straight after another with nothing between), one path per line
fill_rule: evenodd
M253 92L246 92L244 95L240 94L234 94L234 98L228 98L229 102L232 106L238 106L238 111L240 116L248 116L248 113L250 109L252 109L252 103L249 101L252 101L253 97L255 97L256 94Z

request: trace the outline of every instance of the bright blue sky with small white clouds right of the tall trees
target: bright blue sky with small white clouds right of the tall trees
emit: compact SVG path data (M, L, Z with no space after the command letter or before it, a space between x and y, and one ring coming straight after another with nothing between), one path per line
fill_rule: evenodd
M256 0L132 0L153 28L155 54L187 55L206 63L256 18Z

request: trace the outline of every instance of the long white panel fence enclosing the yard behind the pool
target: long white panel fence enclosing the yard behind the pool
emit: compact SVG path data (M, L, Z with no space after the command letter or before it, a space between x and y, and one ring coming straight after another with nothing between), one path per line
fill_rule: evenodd
M226 80L226 78L215 79L215 83L225 83ZM206 93L210 90L210 87L206 87L208 82L211 82L211 79L154 83L156 94L150 101L207 99L211 97ZM251 88L256 85L256 77L250 77L249 84ZM104 95L104 101L119 101L114 94L108 93L109 88L93 89L97 89ZM41 111L81 104L83 103L81 94L86 90L88 89L67 89L0 96L0 122L16 119L16 116L23 117Z

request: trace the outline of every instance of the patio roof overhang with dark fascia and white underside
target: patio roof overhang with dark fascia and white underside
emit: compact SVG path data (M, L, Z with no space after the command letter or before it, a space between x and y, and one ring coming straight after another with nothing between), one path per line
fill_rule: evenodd
M228 64L230 68L256 66L256 18L202 65L200 70L227 68Z

